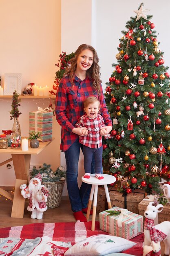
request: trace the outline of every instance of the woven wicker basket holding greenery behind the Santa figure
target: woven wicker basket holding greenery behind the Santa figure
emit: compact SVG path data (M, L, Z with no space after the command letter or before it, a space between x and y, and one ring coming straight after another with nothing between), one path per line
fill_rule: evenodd
M42 184L49 189L49 196L46 202L48 209L60 206L64 183L65 180L58 182L42 182Z

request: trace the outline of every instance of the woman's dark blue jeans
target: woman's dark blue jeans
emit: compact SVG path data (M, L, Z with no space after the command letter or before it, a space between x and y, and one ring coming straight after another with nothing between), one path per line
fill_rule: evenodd
M78 162L79 153L82 144L77 139L68 150L64 151L66 158L66 183L68 196L71 203L72 211L82 211L87 207L89 195L91 192L91 185L82 182L81 187L78 187ZM91 173L95 173L94 159L91 163Z

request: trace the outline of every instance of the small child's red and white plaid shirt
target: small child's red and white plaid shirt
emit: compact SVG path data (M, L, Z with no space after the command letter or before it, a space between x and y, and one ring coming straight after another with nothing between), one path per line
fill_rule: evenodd
M99 114L94 119L89 118L87 114L80 117L75 127L86 127L88 135L79 136L79 143L89 148L100 148L102 146L100 128L103 126L105 126L104 120Z

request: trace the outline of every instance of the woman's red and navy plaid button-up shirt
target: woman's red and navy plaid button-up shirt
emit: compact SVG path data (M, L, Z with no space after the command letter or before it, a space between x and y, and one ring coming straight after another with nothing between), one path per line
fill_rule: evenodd
M95 96L100 101L100 113L104 119L106 126L112 126L112 121L109 117L104 95L97 94L97 91L92 85L92 80L88 77L83 81L77 76L74 79L72 86L69 76L61 79L60 85L56 93L55 115L57 122L62 126L61 145L60 149L66 151L79 135L72 132L75 128L79 117L84 114L83 101L89 96Z

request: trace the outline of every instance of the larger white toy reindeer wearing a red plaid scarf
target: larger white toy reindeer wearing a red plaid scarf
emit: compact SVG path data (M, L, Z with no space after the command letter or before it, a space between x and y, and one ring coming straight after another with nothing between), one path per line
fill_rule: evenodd
M165 245L165 254L170 253L170 221L163 221L158 225L154 225L154 219L157 213L163 210L162 204L155 206L154 202L150 202L144 212L144 245L150 246L152 241L155 243L163 241Z

